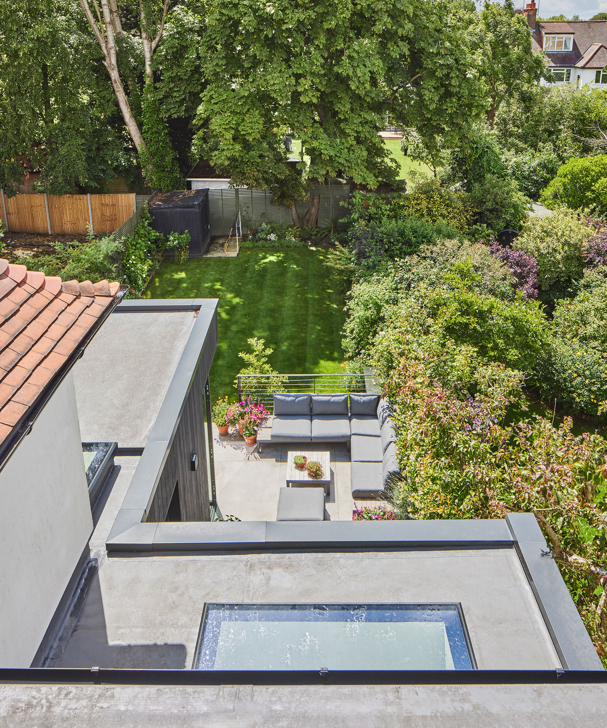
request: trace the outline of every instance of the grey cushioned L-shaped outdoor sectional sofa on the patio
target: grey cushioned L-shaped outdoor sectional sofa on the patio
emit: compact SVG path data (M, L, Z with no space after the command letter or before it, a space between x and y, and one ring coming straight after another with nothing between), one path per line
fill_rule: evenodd
M349 406L348 406L349 396ZM396 432L388 400L379 395L275 394L262 443L348 443L352 497L381 498L398 475Z

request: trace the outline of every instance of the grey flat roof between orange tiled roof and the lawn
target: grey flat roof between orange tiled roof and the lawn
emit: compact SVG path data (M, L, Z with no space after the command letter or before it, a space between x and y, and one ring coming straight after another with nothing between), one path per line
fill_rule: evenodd
M73 369L83 442L146 446L194 322L191 310L108 317Z

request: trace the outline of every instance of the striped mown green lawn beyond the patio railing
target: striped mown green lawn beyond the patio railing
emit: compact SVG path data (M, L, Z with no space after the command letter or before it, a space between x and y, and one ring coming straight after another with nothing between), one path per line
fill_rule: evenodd
M340 373L344 359L345 284L326 264L326 250L259 248L238 258L165 261L144 298L219 298L219 344L211 399L236 397L238 352L252 336L274 349L280 373Z

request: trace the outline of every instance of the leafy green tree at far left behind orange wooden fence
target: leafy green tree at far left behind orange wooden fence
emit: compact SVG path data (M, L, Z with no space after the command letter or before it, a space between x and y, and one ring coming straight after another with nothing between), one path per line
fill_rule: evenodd
M0 186L15 193L28 170L36 187L95 189L136 160L99 52L73 0L0 4ZM101 69L103 71L103 69Z

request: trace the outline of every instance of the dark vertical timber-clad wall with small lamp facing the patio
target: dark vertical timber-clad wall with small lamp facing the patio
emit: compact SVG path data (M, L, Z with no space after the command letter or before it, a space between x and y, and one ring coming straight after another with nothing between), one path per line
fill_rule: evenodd
M165 521L169 504L179 487L182 521L210 521L208 498L207 454L205 446L205 379L204 367L198 366L187 395L179 426L162 468L147 521ZM190 469L196 454L196 470Z

